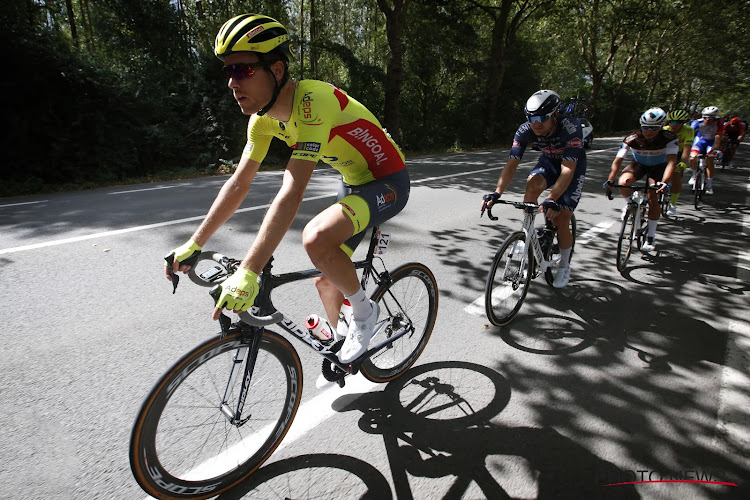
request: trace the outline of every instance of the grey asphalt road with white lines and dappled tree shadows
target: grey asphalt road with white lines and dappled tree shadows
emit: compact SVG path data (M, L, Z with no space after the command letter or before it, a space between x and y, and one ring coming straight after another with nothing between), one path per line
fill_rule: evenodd
M538 278L502 329L476 304L520 226L509 207L479 218L507 151L411 159L385 260L423 262L437 278L424 354L387 386L358 376L319 389L320 359L296 344L304 395L292 430L222 498L748 498L750 150L700 211L680 200L657 252L620 274L623 202L601 190L618 145L588 151L570 285ZM506 198L521 198L535 158ZM0 200L0 497L146 497L128 462L135 414L166 368L218 331L205 289L185 280L171 294L162 257L224 180ZM241 257L280 180L259 174L207 249ZM316 172L277 271L309 267L301 231L335 189L332 170ZM312 284L291 288L277 306L299 321L322 312Z

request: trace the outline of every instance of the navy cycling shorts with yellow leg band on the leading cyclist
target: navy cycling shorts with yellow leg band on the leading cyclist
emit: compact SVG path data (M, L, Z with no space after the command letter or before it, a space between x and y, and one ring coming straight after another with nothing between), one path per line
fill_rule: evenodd
M406 169L360 186L341 181L336 203L354 224L354 235L341 248L352 256L365 230L379 226L406 206L409 200L409 172Z

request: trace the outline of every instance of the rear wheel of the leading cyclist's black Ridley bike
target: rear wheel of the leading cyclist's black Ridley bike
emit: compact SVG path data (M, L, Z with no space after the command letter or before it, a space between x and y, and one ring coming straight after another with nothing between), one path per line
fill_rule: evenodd
M401 376L414 364L432 335L438 311L438 287L432 271L423 264L408 263L397 267L372 293L380 306L386 326L373 337L377 345L402 328L405 318L412 324L407 333L362 362L362 375L372 382L384 383Z

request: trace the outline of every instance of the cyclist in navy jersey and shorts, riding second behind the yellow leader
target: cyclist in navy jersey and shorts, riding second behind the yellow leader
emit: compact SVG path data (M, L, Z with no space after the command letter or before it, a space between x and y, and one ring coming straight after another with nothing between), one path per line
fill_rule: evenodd
M550 189L542 206L547 218L557 227L560 244L560 267L553 286L562 288L570 281L570 253L573 234L570 219L578 206L586 177L586 152L578 119L561 115L560 96L551 90L540 90L526 101L528 121L521 124L513 137L508 161L500 173L497 188L484 195L488 207L500 199L513 180L528 146L542 152L536 166L526 178L524 201L536 203L539 195Z

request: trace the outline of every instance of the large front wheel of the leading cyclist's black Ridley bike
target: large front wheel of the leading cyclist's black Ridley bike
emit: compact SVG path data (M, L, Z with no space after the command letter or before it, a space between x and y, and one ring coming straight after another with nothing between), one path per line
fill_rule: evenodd
M249 477L281 443L302 397L302 365L280 335L262 334L245 400L248 420L233 425L220 410L233 355L247 346L241 333L210 339L151 390L130 439L130 466L146 493L162 499L216 496ZM232 394L242 379L236 377Z

